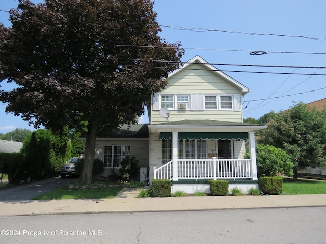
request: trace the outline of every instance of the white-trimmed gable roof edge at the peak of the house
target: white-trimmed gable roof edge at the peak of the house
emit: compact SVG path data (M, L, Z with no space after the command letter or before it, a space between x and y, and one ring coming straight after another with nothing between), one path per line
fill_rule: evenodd
M242 95L250 92L250 89L248 87L242 85L240 82L236 81L235 79L233 79L232 77L228 76L227 74L225 74L224 72L222 72L218 68L216 68L213 65L209 64L202 57L200 57L198 55L195 56L195 57L193 57L189 61L185 62L182 66L180 66L179 69L171 72L169 74L168 78L174 76L175 74L177 74L178 72L180 72L182 69L185 69L185 68L187 68L187 66L192 65L192 64L201 64L201 65L205 66L208 70L214 71L216 75L221 76L226 81L228 81L231 84L233 84L234 86L238 87L241 90Z

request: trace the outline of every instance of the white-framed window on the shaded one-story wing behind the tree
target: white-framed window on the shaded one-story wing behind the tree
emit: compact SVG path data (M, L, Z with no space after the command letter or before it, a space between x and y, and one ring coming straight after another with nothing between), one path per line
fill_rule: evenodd
M104 165L109 168L120 168L121 161L130 155L130 146L104 146Z

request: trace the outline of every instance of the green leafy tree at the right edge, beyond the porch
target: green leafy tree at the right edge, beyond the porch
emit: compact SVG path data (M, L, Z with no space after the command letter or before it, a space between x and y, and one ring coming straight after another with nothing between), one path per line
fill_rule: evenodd
M261 143L282 148L297 170L326 166L326 110L310 109L304 103L279 112L270 119L268 128L260 132Z

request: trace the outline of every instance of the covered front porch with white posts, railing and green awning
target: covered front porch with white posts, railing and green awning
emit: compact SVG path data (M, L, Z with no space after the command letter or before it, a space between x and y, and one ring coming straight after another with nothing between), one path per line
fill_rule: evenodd
M149 128L152 135L153 132L159 135L162 145L162 164L152 165L150 178L170 179L172 192L209 192L209 179L228 180L230 188L237 186L244 192L258 187L254 131L263 129L262 126L237 123L183 126L182 129L158 125ZM171 150L166 148L167 140ZM249 159L244 158L245 144Z

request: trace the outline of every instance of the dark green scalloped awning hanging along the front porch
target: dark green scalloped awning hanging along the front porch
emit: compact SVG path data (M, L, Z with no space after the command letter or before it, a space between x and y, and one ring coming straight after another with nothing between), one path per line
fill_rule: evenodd
M172 138L172 132L161 132L159 138ZM244 140L248 139L248 132L179 132L178 139Z

